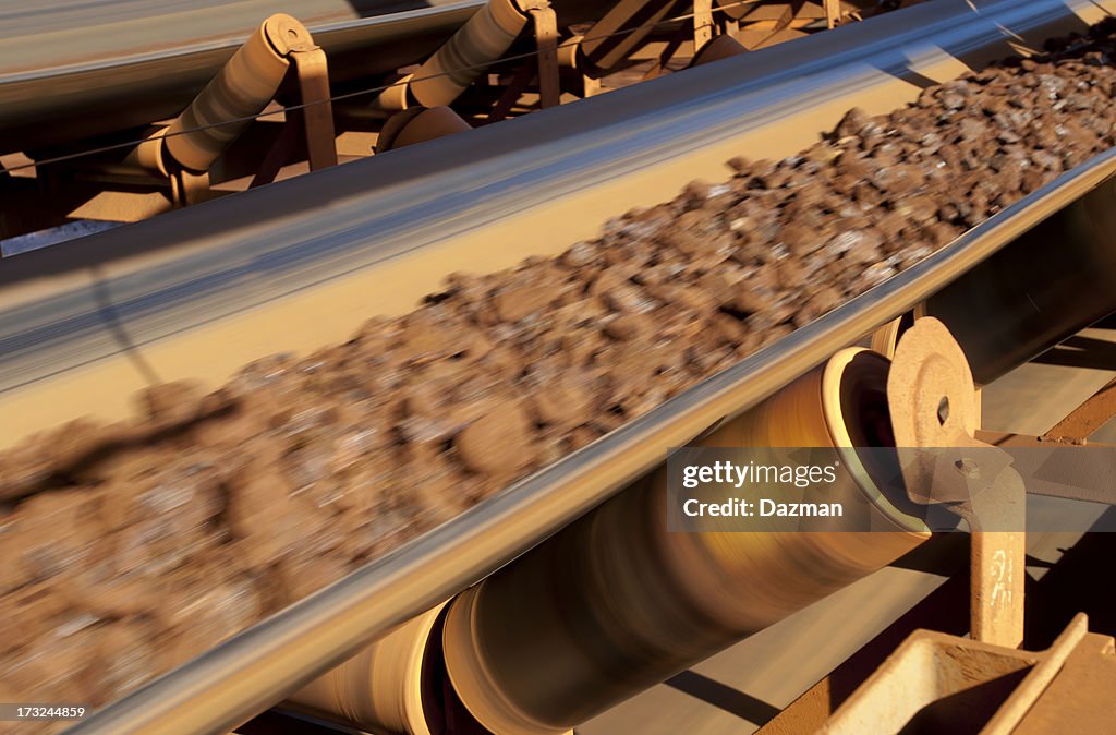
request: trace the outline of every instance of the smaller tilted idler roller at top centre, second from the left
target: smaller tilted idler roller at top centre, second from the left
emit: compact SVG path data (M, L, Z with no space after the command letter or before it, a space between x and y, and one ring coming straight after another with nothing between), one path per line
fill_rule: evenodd
M384 109L403 109L415 102L424 107L449 105L499 60L527 26L527 13L516 0L489 0L426 59L404 85L389 87L378 97Z

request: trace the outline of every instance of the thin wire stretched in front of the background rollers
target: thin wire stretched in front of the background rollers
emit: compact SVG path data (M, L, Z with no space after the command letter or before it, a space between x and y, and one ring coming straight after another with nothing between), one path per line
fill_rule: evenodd
M762 2L762 0L734 0L733 2L720 3L720 4L718 4L716 8L714 8L714 10L724 10L724 9L728 9L728 8L735 8L735 7L740 7L740 6L750 6L750 4L756 4L756 3L759 3L759 2ZM566 41L562 41L561 44L558 44L558 46L556 48L560 49L560 48L566 48L568 46L577 46L578 44L584 44L585 41L596 41L596 40L603 40L605 38L612 38L614 36L624 36L624 35L627 35L627 34L634 34L635 31L643 30L645 28L655 28L655 27L658 27L658 26L665 26L667 23L677 22L680 20L690 20L692 18L695 18L696 16L698 16L696 12L689 12L689 13L685 13L685 15L682 15L682 16L675 16L673 18L664 18L662 20L658 20L658 21L655 21L655 22L652 22L652 23L643 23L641 26L633 26L632 28L622 28L619 30L613 31L610 34L604 34L602 36L585 37L585 38L579 38L579 39L576 39L576 40L571 38L571 39L568 39ZM88 151L81 151L79 153L67 153L66 155L58 155L58 156L55 156L55 157L51 157L51 159L42 159L41 161L33 161L31 163L21 163L21 164L16 165L16 166L0 169L0 173L4 173L4 172L10 173L12 171L21 171L23 169L35 169L35 168L38 168L38 166L50 165L52 163L62 163L65 161L74 161L75 159L83 159L83 157L86 157L86 156L89 156L89 155L96 155L98 153L107 153L109 151L118 151L118 150L122 150L122 149L136 147L137 145L141 145L143 143L148 143L148 142L158 141L158 140L165 140L167 137L175 137L177 135L186 135L189 133L199 133L201 131L211 130L213 127L222 127L224 125L235 125L238 123L247 123L247 122L251 122L251 121L254 121L254 120L259 120L261 117L270 117L271 115L278 115L279 113L288 113L288 112L296 112L296 111L299 111L299 109L306 109L307 107L311 107L314 105L324 105L326 103L334 103L334 102L338 102L338 101L341 101L341 99L352 99L354 97L360 97L360 96L364 96L364 95L371 95L371 94L374 94L374 93L377 93L377 92L384 92L385 89L391 89L392 87L398 87L398 86L403 86L403 85L414 84L415 82L425 82L427 79L436 79L439 77L444 77L444 76L450 76L452 74L458 74L459 71L472 71L472 70L477 70L477 69L485 69L485 68L488 68L490 66L494 66L494 65L503 63L503 61L518 61L518 60L521 60L521 59L531 58L533 56L539 56L541 52L542 51L533 50L533 51L527 51L527 52L523 52L523 54L514 54L514 55L511 55L511 56L501 57L501 58L492 60L492 61L485 61L484 64L474 64L472 66L464 66L464 67L460 67L460 68L456 68L456 69L450 69L450 70L446 70L446 71L440 71L437 74L431 74L430 76L425 76L425 77L419 77L419 78L410 77L410 78L406 78L406 79L400 79L398 82L393 82L392 84L385 84L385 85L382 85L382 86L378 86L378 87L369 87L369 88L366 88L366 89L357 89L355 92L346 92L344 94L334 95L334 96L327 97L325 99L314 99L311 102L305 102L305 103L300 103L300 104L297 104L297 105L289 105L287 107L280 107L278 109L269 109L269 111L260 112L260 113L257 113L254 115L246 115L243 117L233 117L231 120L222 120L222 121L219 121L219 122L215 122L215 123L208 123L205 125L199 125L196 127L187 127L187 128L174 131L173 133L169 132L169 128L167 128L167 130L164 130L161 135L152 135L151 137L144 137L144 139L140 139L137 141L127 141L127 142L124 142L124 143L113 143L110 145L103 145L100 147L90 149Z

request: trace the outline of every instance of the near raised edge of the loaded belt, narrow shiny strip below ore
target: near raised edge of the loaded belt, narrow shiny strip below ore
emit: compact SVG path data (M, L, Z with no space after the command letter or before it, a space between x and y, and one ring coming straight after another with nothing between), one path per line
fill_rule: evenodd
M727 416L756 404L888 317L940 290L1083 197L1116 198L1116 151L950 247L600 441L222 643L73 728L219 732L294 693L377 634L434 607L576 519ZM199 707L204 701L204 707Z

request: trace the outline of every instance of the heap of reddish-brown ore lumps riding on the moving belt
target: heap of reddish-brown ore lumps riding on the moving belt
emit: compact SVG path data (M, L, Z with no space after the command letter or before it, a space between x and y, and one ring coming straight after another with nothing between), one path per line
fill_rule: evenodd
M100 705L917 262L1114 144L1106 30L451 276L215 393L0 456L0 700Z

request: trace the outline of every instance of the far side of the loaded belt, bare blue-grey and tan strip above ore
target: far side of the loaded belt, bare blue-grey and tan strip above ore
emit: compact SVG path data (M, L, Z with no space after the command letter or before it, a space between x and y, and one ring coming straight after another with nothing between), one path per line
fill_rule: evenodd
M920 90L907 77L1010 54L1004 27L1039 46L1103 17L1070 8L1084 20L1061 2L978 15L940 0L4 261L0 409L15 419L0 443L121 418L152 375L215 384L262 354L343 342L448 273L558 252L741 152L789 155L854 105L893 109Z

